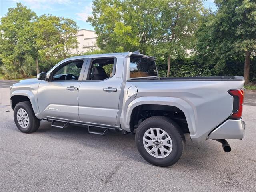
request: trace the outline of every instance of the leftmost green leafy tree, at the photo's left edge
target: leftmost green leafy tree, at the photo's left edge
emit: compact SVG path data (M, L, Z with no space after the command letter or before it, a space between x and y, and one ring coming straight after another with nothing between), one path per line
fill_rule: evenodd
M25 78L31 75L33 62L29 55L33 48L34 12L17 3L9 8L0 25L0 58L4 64L5 78Z

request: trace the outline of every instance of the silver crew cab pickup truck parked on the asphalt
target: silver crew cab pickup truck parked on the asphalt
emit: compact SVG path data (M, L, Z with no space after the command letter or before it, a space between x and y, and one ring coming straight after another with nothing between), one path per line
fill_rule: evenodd
M217 140L226 152L225 139L244 137L243 85L242 76L159 78L155 58L138 52L84 55L14 84L10 102L21 132L35 132L41 120L89 133L120 130L135 134L145 160L170 166L186 133Z

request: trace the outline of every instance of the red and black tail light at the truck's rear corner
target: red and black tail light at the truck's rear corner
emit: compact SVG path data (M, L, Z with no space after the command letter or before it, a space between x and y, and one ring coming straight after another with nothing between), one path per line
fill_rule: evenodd
M240 119L243 112L244 91L242 89L230 90L228 92L233 96L233 111L230 116L231 119Z

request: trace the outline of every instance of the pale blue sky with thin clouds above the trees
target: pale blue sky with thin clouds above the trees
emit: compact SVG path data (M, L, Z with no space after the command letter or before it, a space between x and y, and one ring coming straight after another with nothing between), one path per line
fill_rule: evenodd
M92 13L92 0L0 0L0 17L5 16L8 8L16 7L16 2L21 2L38 16L52 14L64 16L77 22L80 29L93 30L87 17ZM204 6L216 10L214 0L205 0Z

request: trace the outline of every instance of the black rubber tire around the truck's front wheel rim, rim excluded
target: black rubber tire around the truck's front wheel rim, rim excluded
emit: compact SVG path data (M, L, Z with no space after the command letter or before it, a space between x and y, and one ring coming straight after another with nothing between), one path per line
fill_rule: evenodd
M26 113L28 114L29 121L28 121L28 125L26 128L23 128L18 123L17 112L19 109L24 109L26 111ZM16 106L14 108L13 117L14 117L14 122L15 122L17 128L23 133L35 132L36 130L38 130L38 128L40 126L40 120L38 118L36 118L33 108L32 108L32 105L29 101L23 101L23 102L19 102L18 104L16 104Z

